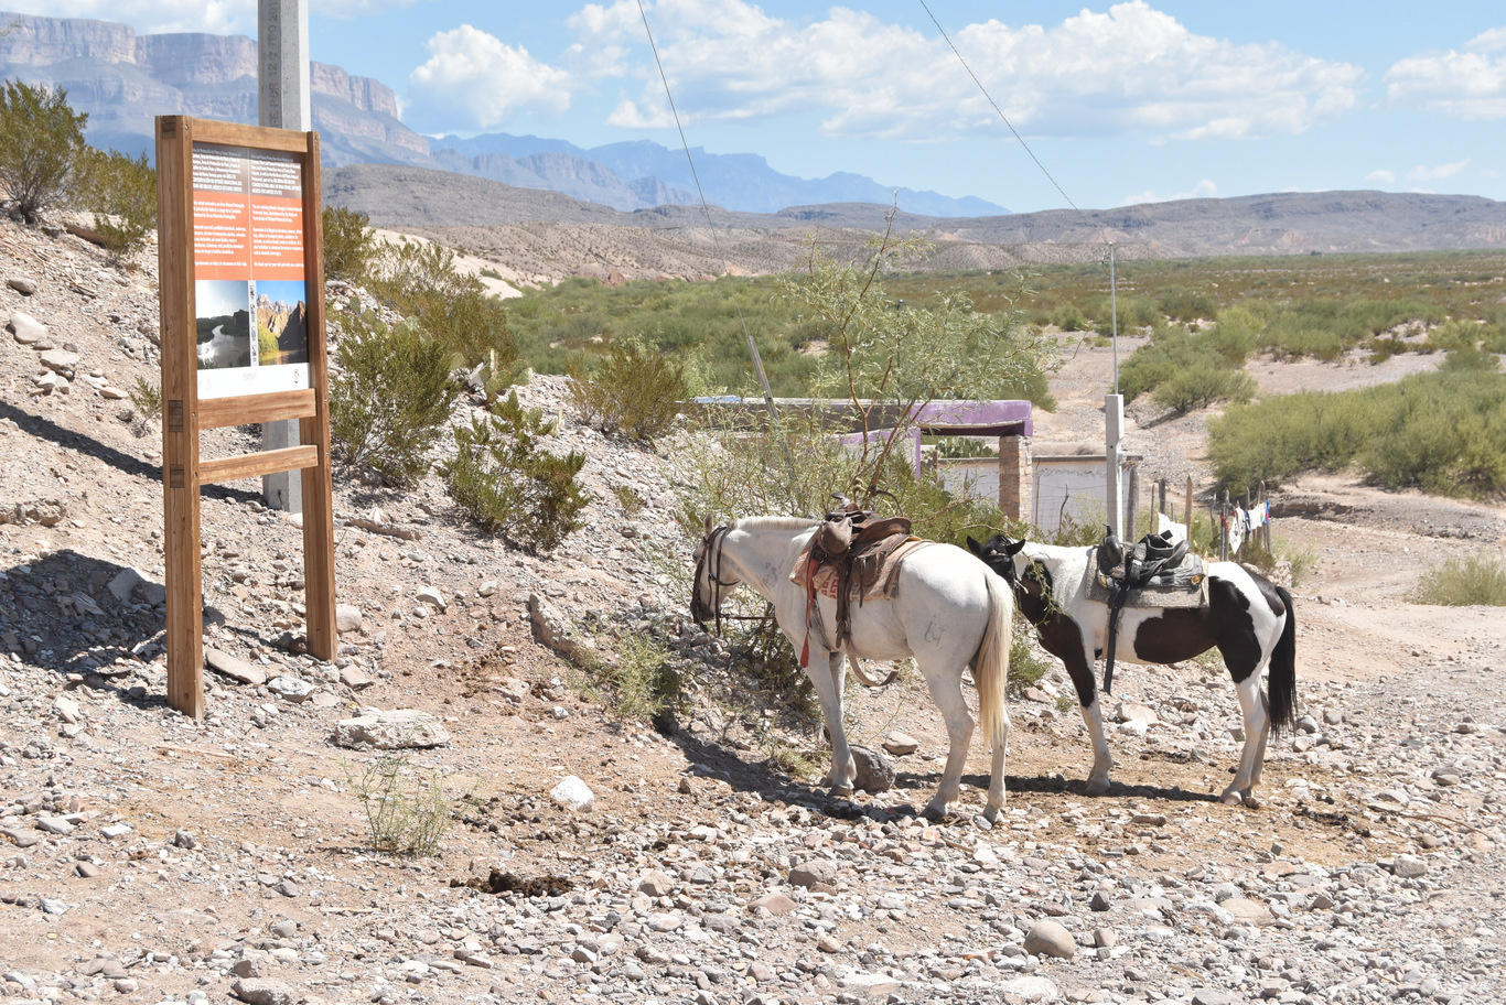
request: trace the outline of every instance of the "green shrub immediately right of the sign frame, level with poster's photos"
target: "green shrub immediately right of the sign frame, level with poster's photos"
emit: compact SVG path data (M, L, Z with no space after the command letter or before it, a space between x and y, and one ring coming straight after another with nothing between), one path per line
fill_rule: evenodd
M334 314L339 373L330 379L330 441L342 468L411 487L431 466L459 387L449 351L411 320L389 326L352 302Z

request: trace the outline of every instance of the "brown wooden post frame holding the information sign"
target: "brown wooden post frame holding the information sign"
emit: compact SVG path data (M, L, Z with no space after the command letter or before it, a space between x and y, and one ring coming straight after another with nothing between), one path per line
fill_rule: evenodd
M196 305L194 144L271 152L297 164L301 179L304 320L307 387L205 397ZM248 190L250 191L250 190ZM289 200L282 200L289 202ZM321 233L319 135L214 122L190 116L157 117L158 299L163 343L163 554L167 570L167 701L202 718L203 569L200 564L199 487L277 471L301 471L303 560L309 651L333 659L334 516L330 475L330 375L324 332L324 244ZM297 206L288 212L294 212ZM250 209L247 209L250 221ZM255 232L255 224L247 224ZM247 235L247 253L256 239ZM285 245L294 241L280 235ZM285 248L297 254L297 248ZM247 254L247 269L253 265ZM256 326L252 320L250 337ZM252 345L256 345L252 342ZM205 429L298 420L300 444L217 460L200 460Z

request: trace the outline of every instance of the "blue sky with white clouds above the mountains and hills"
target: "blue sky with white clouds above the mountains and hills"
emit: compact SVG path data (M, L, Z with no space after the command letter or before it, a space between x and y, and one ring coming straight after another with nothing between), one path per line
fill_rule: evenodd
M312 57L390 86L420 132L679 146L637 0L306 2ZM256 33L255 0L8 6ZM643 6L691 146L789 175L855 172L1014 211L1354 188L1506 199L1498 2Z

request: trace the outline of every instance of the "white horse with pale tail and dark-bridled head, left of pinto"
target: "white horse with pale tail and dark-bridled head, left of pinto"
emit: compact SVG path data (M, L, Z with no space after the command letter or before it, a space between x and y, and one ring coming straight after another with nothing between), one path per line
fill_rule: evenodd
M813 521L782 516L751 516L721 527L712 527L708 518L705 537L696 549L691 596L696 623L718 617L723 597L747 585L774 605L774 618L797 653L809 642L806 676L816 688L831 734L831 770L822 784L843 796L851 794L857 776L842 725L843 654L878 660L913 656L946 719L950 740L941 782L923 811L928 817L946 815L958 797L973 740L974 722L962 697L962 671L971 665L982 733L992 754L983 815L994 820L1005 803L1005 743L1009 739L1005 709L1014 629L1009 587L961 548L920 548L901 560L893 599L852 605L852 638L842 650L833 650L821 626L836 624L836 600L818 596L819 618L810 617L806 588L791 581L816 528Z

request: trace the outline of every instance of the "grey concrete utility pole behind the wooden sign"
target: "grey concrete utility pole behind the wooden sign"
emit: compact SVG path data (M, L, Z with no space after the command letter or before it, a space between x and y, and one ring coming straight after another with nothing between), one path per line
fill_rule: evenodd
M264 126L313 128L309 95L309 6L307 0L258 0L258 120ZM322 275L306 277L322 283ZM298 420L262 424L262 448L300 445ZM303 512L303 472L279 471L262 475L267 506L288 513Z

